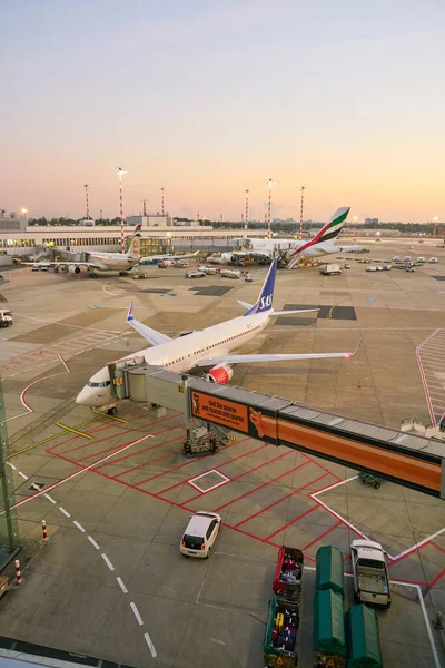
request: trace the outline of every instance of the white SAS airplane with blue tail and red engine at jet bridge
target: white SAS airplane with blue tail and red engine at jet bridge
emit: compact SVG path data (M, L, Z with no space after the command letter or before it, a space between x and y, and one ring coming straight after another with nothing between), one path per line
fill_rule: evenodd
M212 325L199 332L191 332L187 336L170 338L156 330L138 322L134 317L134 304L131 302L127 315L127 323L134 327L152 347L144 348L119 360L136 364L138 361L152 366L159 366L166 371L184 373L195 366L207 366L209 371L206 380L212 383L228 383L233 377L233 364L250 364L256 362L285 362L291 360L324 360L328 357L350 357L352 353L304 353L304 354L257 354L257 355L230 355L230 351L238 348L255 338L268 324L270 317L277 315L291 315L294 313L307 313L318 308L304 308L298 311L274 311L274 286L277 271L275 259L267 273L259 297L255 304L238 302L247 308L239 317L226 321L219 325ZM116 412L116 397L111 394L111 382L108 367L103 366L95 373L80 391L76 403L108 409L109 413Z

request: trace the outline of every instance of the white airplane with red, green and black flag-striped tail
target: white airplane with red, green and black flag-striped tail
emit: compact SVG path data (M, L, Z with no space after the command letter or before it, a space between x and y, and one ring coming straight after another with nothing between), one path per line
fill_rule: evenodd
M330 220L309 240L296 240L290 238L271 239L249 239L251 246L247 250L231 250L221 253L219 257L210 256L207 262L214 264L227 264L243 262L243 258L253 257L259 262L270 262L278 253L281 262L284 261L288 269L299 262L301 257L318 257L320 255L332 255L333 253L352 253L363 250L363 246L336 246L333 239L339 234L345 224L350 207L342 207L332 216Z

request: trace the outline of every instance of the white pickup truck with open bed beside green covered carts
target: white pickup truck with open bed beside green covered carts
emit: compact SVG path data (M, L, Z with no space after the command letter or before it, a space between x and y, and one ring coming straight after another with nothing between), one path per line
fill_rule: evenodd
M354 593L357 603L374 603L389 608L389 577L385 550L373 540L353 540L350 561L354 574Z

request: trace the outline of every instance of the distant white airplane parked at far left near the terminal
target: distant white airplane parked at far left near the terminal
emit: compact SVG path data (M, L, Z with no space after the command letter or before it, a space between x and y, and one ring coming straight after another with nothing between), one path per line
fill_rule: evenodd
M119 272L119 274L123 274L140 262L139 242L141 227L140 224L136 226L128 253L99 253L95 250L92 253L86 253L86 261L77 262L67 259L43 264L51 267L68 267L70 274L80 274L81 267L85 267L90 276L95 276L96 272ZM23 264L32 264L32 266L34 266L34 263Z

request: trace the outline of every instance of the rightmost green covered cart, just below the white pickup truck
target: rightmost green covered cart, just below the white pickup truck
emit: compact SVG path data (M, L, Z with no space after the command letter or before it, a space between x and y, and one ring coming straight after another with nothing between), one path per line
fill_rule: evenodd
M382 668L380 638L375 610L352 606L346 612L348 668Z

